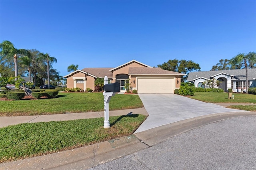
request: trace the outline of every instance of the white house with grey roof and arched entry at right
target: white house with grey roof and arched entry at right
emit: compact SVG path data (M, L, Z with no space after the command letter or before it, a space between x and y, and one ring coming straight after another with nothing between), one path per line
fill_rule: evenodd
M203 87L202 83L206 80L216 79L220 81L217 88L228 92L246 91L246 73L245 69L218 70L218 71L198 71L188 73L188 82L194 83L196 87ZM256 87L256 69L248 69L248 79L250 87Z

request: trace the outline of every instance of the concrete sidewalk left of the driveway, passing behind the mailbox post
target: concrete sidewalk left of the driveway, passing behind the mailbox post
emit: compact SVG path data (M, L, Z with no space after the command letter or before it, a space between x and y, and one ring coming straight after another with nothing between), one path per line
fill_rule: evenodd
M139 109L126 109L118 111L109 111L110 116L122 116L128 114L148 115L144 107ZM0 117L0 128L8 125L17 125L20 123L36 123L50 121L68 121L76 119L91 119L104 117L104 112L88 112L88 113L67 113L57 115L36 115L36 116L16 116L16 117ZM103 125L103 124L102 124Z

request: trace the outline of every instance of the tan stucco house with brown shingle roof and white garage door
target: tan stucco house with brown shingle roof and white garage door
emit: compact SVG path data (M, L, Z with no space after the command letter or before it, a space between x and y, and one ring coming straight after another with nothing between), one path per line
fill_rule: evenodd
M125 91L125 82L129 79L132 89L138 93L174 93L180 87L180 77L186 75L161 68L153 68L139 61L132 60L115 68L84 68L65 75L67 87L94 89L97 77L108 76L110 83L120 83L121 91Z

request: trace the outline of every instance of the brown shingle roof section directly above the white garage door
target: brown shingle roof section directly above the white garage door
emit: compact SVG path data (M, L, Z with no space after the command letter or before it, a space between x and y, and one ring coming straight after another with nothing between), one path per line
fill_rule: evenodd
M186 75L183 73L178 73L174 71L163 70L159 67L149 68L149 67L130 67L129 75Z

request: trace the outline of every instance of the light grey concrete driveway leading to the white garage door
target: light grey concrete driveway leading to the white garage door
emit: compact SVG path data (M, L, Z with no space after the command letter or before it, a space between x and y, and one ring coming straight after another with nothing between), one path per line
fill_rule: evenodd
M202 115L241 111L175 94L139 94L139 97L149 117L134 133Z

